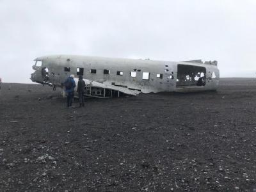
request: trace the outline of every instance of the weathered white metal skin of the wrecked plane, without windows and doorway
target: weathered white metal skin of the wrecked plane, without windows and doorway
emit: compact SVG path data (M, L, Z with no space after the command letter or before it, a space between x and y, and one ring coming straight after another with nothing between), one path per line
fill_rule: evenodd
M137 95L140 92L216 90L220 78L215 62L202 63L200 60L175 62L56 55L42 56L36 58L35 61L42 61L41 66L33 65L35 72L31 74L31 80L37 83L61 86L70 74L74 74L76 78L78 77L77 68L84 68L83 78L87 86L107 88L129 95ZM179 64L205 67L207 78L205 86L177 88L177 66ZM70 71L65 71L65 67L70 68ZM47 79L42 77L42 68L47 68L48 70ZM96 73L91 73L92 69L95 69ZM104 70L109 70L109 74L104 74ZM117 75L117 71L122 72L122 75ZM134 72L136 72L136 77L134 77ZM143 72L149 74L148 80L143 79ZM212 72L214 72L215 78L211 78ZM162 78L159 77L159 74L161 74ZM173 79L170 79L172 76Z

